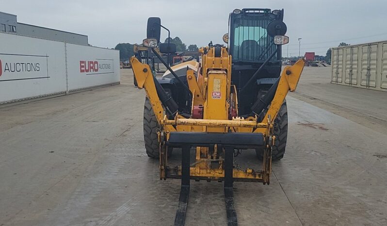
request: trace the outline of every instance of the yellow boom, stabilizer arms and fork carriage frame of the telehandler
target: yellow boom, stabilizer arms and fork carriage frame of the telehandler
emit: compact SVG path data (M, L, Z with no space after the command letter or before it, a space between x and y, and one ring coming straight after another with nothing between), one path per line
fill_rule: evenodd
M161 126L159 132L160 142L160 178L167 178L167 170L174 170L177 176L181 176L181 167L169 168L167 165L167 152L165 142L169 139L169 133L173 131L191 131L191 132L227 132L231 129L233 132L258 132L262 133L265 139L263 168L254 171L247 168L246 170L233 170L233 178L243 181L261 181L264 184L270 182L271 173L271 149L274 145L275 136L273 135L273 122L277 116L282 103L288 92L295 91L300 79L305 61L298 60L292 66L286 66L281 73L274 99L264 116L262 122L258 122L257 117L249 118L225 118L225 112L222 106L228 110L228 99L231 93L231 56L228 55L227 49L221 48L221 56L215 57L214 47L200 48L202 53L201 72L195 79L194 71L187 70L188 86L193 94L193 105L203 105L205 119L184 118L181 115L174 120L168 120L164 109L157 95L153 75L149 65L140 63L135 57L130 59L134 76L136 77L138 88L145 88L147 97L152 104L153 111ZM217 80L217 81L215 81ZM226 95L220 97L220 102L210 99L212 92L226 90ZM235 89L234 89L235 90ZM236 95L236 93L235 93ZM237 97L233 97L237 100ZM236 103L238 104L238 103ZM214 109L214 110L211 110ZM236 108L238 109L238 107ZM227 117L227 116L226 116ZM211 118L211 119L208 119ZM216 119L212 119L216 118ZM196 147L196 161L190 168L190 176L193 178L202 178L207 180L219 180L224 178L223 161L216 159L217 146L214 147L214 153L209 153L208 147ZM219 168L212 169L211 161L219 161Z

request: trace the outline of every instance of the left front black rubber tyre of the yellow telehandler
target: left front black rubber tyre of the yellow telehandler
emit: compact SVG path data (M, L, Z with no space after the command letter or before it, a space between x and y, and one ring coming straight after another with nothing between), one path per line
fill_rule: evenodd
M145 97L144 103L144 144L146 155L150 158L159 159L159 139L157 137L157 129L159 129L159 123L157 122L156 115L153 112L152 104L148 97ZM168 156L171 156L172 148L168 148Z

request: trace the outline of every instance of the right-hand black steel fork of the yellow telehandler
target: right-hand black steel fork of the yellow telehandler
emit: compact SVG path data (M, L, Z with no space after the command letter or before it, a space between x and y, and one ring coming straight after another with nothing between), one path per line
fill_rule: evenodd
M225 201L226 201L226 214L227 225L237 226L237 212L234 206L234 194L232 191L232 168L233 168L234 149L232 147L225 148Z

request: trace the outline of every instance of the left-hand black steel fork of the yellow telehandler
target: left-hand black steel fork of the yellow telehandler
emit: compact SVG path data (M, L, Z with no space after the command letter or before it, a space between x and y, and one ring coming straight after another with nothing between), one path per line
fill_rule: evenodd
M191 146L188 145L181 148L181 189L175 226L184 226L187 212L188 197L190 196L190 149Z

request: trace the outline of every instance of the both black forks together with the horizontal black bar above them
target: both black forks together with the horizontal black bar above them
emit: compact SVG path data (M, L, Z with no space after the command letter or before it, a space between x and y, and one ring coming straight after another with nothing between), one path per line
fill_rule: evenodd
M224 181L225 204L227 225L237 226L237 212L234 205L233 195L233 170L234 170L234 149L243 145L249 148L255 148L263 145L261 134L246 133L245 139L230 139L230 135L238 136L238 133L215 133L215 132L171 132L168 146L181 147L181 189L176 211L175 226L183 226L190 195L190 151L193 146L222 145L225 148L224 156L224 177L219 180Z

